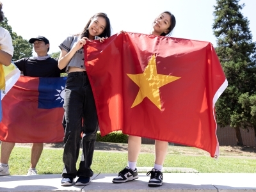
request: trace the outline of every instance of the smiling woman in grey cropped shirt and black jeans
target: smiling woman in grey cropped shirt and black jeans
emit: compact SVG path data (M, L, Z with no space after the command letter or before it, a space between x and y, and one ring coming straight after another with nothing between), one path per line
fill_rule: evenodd
M111 26L107 15L97 13L90 18L81 33L68 36L60 45L58 66L59 68L67 66L68 74L63 104L65 138L61 186L71 186L76 176L79 177L76 186L86 186L93 175L91 164L99 122L92 88L84 66L83 46L86 40L94 40L95 36L100 37L100 42L104 42L104 38L110 35ZM77 170L76 162L81 140L83 154Z

